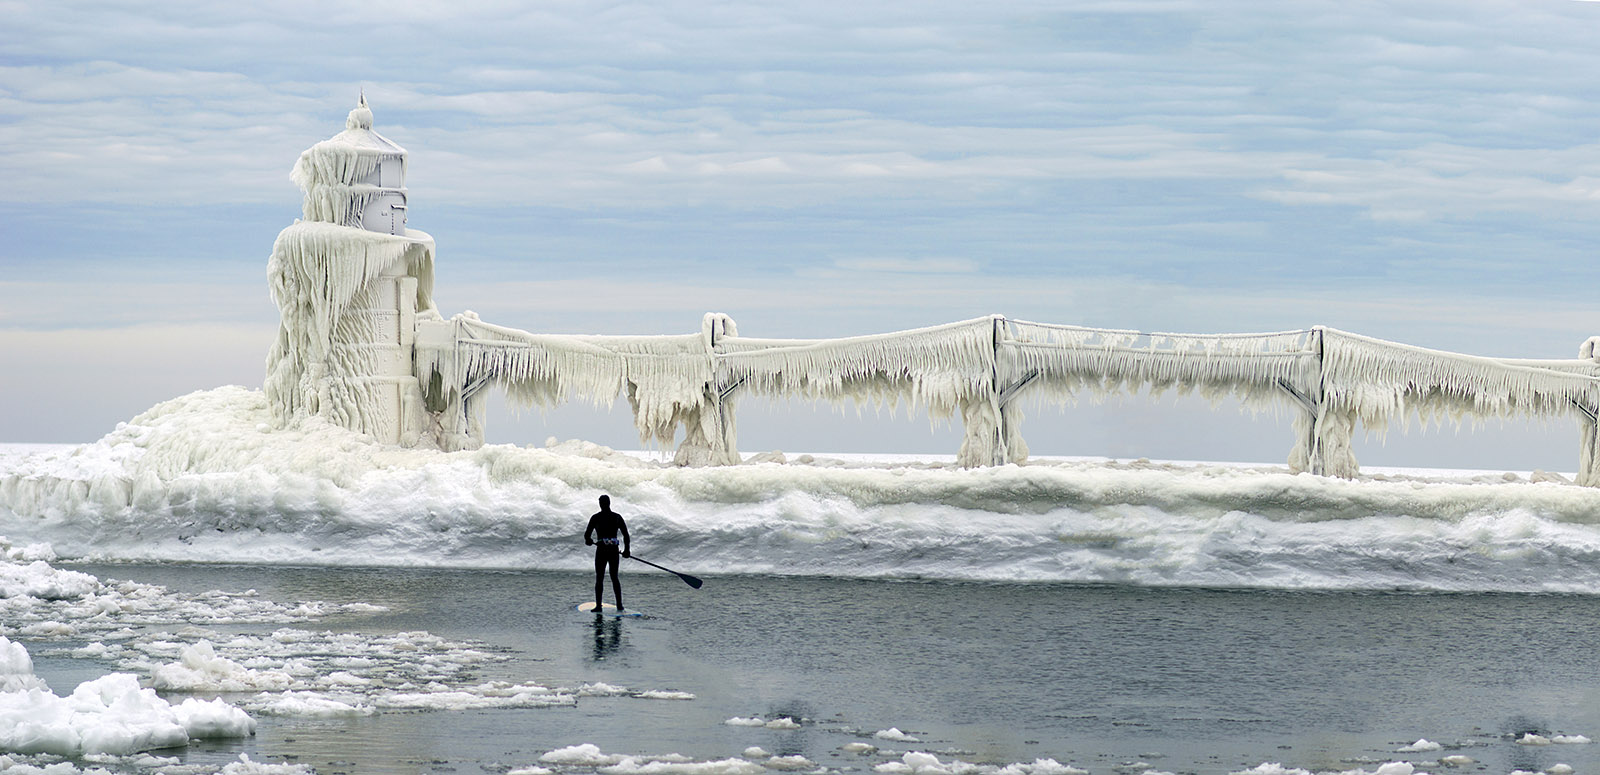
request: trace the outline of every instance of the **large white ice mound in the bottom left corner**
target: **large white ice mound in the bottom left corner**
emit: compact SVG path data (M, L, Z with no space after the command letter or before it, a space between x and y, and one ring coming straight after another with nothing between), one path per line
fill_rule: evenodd
M184 700L170 705L126 673L112 673L80 684L69 697L56 697L27 661L18 644L0 637L10 689L0 692L0 749L24 754L131 754L189 745L190 738L248 737L256 722L221 700ZM27 660L22 650L21 660ZM27 674L19 668L27 665ZM29 681L32 677L32 681Z

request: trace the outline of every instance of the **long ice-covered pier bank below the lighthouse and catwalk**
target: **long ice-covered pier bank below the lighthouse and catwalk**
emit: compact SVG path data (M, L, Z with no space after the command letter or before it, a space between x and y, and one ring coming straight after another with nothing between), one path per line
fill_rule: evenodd
M442 453L270 431L242 388L22 452L0 455L0 535L77 560L578 570L610 493L642 556L694 573L1600 594L1600 492L1542 472Z

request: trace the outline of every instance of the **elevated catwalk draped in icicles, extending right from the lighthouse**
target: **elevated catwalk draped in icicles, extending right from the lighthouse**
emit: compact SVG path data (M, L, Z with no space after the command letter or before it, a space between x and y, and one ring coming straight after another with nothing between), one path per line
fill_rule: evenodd
M438 440L483 439L483 388L526 405L610 404L626 396L640 440L672 445L680 464L739 461L741 396L925 408L960 415L963 466L1027 460L1021 402L1165 391L1234 397L1294 412L1293 471L1352 477L1357 421L1451 423L1573 416L1582 431L1579 484L1600 485L1595 455L1600 360L1592 338L1574 360L1490 359L1314 327L1275 333L1146 333L1032 323L1002 315L840 339L739 336L707 314L698 335L534 335L474 315L419 323L416 370Z

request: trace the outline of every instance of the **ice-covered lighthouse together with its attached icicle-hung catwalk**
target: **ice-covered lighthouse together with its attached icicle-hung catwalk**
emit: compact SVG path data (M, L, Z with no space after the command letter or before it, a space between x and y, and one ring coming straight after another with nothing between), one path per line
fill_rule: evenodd
M626 396L638 437L677 442L680 464L739 463L739 396L922 407L960 415L963 466L1027 460L1021 400L1200 391L1290 410L1293 471L1354 477L1357 423L1574 416L1579 484L1600 485L1600 336L1574 360L1490 359L1314 327L1278 333L1144 333L989 315L842 339L741 336L707 314L682 336L542 335L443 319L430 301L434 242L405 227L405 151L371 130L365 98L346 131L306 151L291 178L304 221L272 250L282 311L266 392L280 424L320 415L386 444L483 444L486 389L554 405ZM680 431L682 429L682 431Z

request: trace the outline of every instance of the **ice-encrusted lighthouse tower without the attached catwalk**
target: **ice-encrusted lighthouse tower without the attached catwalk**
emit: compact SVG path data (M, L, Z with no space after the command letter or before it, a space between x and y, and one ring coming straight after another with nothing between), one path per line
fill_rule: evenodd
M418 314L438 315L434 239L406 227L406 152L373 131L365 94L344 126L290 173L304 218L267 264L278 338L264 392L280 426L322 416L411 445L429 424L411 362Z

